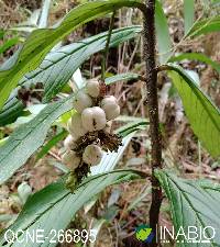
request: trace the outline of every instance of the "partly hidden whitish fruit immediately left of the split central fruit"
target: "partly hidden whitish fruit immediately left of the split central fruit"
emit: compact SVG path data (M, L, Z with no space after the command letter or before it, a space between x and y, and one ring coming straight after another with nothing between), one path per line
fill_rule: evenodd
M74 138L79 138L84 136L88 131L82 126L81 115L74 114L67 122L67 130L74 136Z

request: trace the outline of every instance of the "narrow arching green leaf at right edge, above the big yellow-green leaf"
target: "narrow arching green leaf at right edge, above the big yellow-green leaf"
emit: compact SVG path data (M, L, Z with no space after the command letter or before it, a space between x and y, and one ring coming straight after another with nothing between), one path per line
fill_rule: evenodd
M170 63L182 61L182 60L185 60L185 59L199 60L199 61L206 63L207 65L210 65L213 69L216 69L218 72L220 72L220 64L217 63L217 61L213 61L211 58L204 55L202 53L183 53L183 54L179 54L175 57L172 57L169 59L169 61Z

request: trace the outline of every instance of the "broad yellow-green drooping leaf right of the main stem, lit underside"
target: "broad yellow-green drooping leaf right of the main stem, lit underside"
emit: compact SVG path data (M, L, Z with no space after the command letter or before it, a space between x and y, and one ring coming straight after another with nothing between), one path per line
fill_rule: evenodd
M220 156L220 111L179 66L168 72L184 104L194 133L213 156Z

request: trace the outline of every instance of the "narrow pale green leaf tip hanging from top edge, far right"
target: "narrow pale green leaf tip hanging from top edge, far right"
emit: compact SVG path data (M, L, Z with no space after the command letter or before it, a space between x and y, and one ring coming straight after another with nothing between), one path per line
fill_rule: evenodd
M185 35L190 31L194 25L194 15L195 15L195 1L194 0L184 0L184 30Z

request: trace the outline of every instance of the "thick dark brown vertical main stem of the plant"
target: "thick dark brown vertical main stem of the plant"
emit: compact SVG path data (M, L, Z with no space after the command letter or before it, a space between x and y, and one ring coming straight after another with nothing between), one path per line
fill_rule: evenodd
M155 0L146 0L144 12L144 56L146 63L147 108L150 117L150 135L152 143L152 204L150 209L150 225L157 232L160 209L162 204L162 188L154 176L155 169L162 168L162 144L158 121L157 70L155 61ZM157 246L156 236L151 246Z

